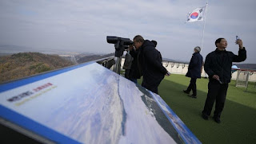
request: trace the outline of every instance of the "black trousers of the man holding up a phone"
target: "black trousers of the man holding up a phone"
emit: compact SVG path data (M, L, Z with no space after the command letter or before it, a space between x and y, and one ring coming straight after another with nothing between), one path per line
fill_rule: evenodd
M217 80L209 82L206 103L202 111L204 115L210 115L214 101L216 101L214 117L220 118L226 101L226 91L228 87L229 84L219 84Z

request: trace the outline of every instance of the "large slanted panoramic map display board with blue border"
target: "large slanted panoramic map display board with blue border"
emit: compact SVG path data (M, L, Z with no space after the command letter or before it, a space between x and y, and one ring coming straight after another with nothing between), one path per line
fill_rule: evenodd
M2 124L57 143L200 143L159 95L91 62L0 85Z

